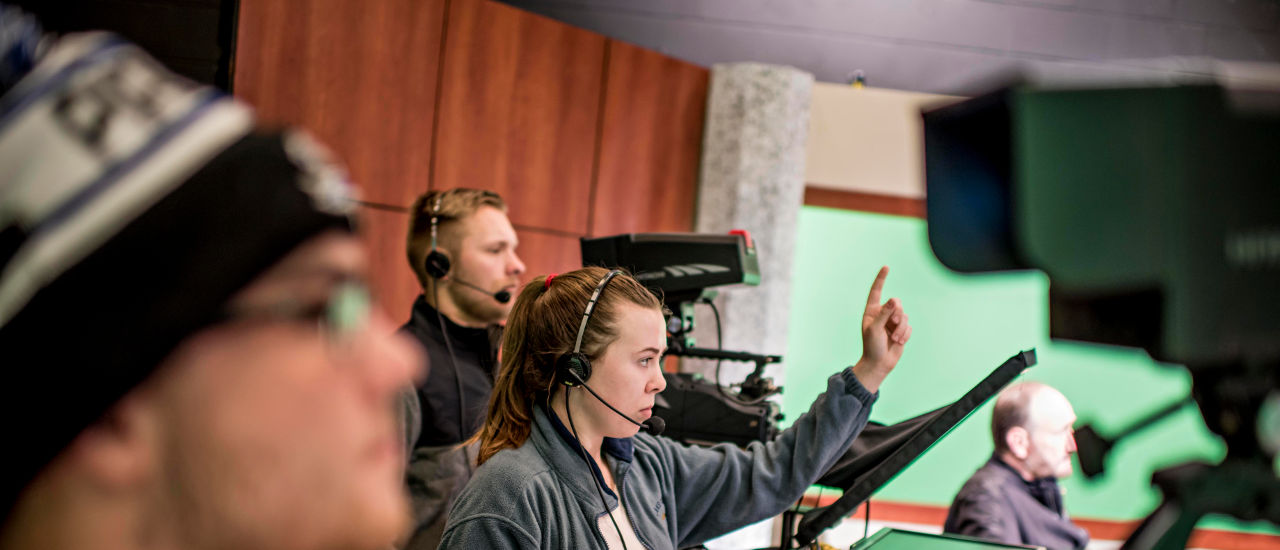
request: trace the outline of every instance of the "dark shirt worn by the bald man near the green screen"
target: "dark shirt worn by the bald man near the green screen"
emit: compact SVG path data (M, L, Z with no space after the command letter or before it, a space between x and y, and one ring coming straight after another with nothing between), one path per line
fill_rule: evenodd
M998 457L960 487L943 532L1000 542L1079 549L1089 535L1066 518L1055 478L1027 481Z

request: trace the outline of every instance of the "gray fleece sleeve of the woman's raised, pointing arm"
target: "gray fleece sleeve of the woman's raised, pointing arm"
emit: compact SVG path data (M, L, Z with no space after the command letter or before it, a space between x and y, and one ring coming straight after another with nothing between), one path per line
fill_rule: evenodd
M867 426L873 395L851 368L769 443L686 446L658 437L671 462L676 545L685 547L777 515L822 476Z

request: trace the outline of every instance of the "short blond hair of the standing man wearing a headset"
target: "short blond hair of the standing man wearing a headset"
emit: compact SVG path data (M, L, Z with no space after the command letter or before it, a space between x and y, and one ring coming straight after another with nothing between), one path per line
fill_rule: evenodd
M426 288L430 276L426 274L426 255L431 252L431 217L436 220L436 248L453 248L460 235L453 230L456 221L475 214L483 206L492 206L507 214L507 203L498 193L483 189L429 191L413 201L410 210L408 239L406 253L408 266L417 275L417 281ZM454 258L451 258L454 260Z

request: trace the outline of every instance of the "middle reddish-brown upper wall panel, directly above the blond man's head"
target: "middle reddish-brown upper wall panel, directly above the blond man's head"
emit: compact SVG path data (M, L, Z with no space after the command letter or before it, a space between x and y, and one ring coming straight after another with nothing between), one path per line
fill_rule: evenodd
M500 193L516 224L586 233L604 37L452 0L434 187Z

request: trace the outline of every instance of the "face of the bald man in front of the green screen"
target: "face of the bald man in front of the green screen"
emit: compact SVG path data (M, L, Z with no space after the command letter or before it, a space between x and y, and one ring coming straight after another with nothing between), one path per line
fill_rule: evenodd
M1043 389L1032 398L1028 418L1025 467L1032 476L1068 477L1071 475L1071 453L1075 453L1075 411L1071 403L1053 389Z

